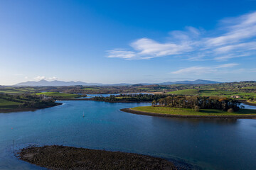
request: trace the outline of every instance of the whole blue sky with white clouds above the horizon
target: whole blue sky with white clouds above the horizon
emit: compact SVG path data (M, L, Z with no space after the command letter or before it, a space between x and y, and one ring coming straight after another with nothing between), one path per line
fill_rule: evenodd
M0 85L255 75L254 0L0 1Z

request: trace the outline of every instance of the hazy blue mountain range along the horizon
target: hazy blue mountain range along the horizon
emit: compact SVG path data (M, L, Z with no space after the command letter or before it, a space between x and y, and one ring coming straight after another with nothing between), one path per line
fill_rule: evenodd
M167 81L164 83L159 83L159 85L171 85L171 84L218 84L218 81L209 81L209 80L194 80L194 81ZM26 81L23 83L15 84L14 86L130 86L133 84L97 84L97 83L85 83L82 81ZM142 85L151 85L151 84L142 84Z

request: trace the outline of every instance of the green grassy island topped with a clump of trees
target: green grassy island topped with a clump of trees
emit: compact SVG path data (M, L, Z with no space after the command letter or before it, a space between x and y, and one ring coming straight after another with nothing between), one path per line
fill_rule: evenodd
M172 118L256 118L256 110L240 108L239 101L216 96L168 96L153 101L151 106L120 111Z

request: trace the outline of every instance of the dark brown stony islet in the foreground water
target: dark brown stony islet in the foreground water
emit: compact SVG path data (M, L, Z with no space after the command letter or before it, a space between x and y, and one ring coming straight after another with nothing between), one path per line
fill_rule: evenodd
M27 147L19 159L47 169L176 169L166 159L142 154L64 147Z

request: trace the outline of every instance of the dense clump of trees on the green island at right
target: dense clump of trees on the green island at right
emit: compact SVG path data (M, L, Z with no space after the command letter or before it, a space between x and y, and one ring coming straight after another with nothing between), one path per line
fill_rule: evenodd
M240 102L230 98L203 97L203 96L167 96L152 101L152 106L170 108L215 108L223 111L238 111Z

